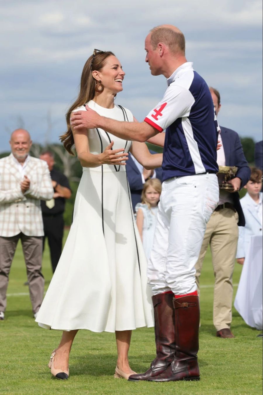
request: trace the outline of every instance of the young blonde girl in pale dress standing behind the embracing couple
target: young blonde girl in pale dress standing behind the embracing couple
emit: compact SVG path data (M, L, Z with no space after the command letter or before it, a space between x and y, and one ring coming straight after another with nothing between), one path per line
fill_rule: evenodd
M135 206L136 224L147 260L153 248L153 238L157 219L158 202L162 191L159 179L153 178L145 182L142 190L142 201Z

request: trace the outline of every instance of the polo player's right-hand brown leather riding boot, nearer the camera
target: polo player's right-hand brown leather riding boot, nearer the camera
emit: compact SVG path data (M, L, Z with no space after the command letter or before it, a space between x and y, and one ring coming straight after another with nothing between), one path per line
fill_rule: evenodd
M175 357L169 367L149 381L200 380L197 362L200 322L199 298L196 295L173 299L175 309Z

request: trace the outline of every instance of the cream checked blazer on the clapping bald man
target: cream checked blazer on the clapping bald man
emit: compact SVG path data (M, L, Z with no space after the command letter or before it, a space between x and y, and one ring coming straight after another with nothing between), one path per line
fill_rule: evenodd
M20 232L27 236L43 236L40 199L49 200L54 190L47 163L29 156L25 175L30 188L23 194L21 173L10 154L0 159L0 236L12 237Z

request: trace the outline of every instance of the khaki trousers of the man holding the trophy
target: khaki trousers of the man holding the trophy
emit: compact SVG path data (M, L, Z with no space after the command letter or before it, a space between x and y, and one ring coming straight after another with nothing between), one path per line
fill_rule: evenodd
M231 209L221 209L211 215L195 266L196 284L200 294L200 274L210 244L215 275L213 322L217 331L230 329L232 321L232 276L239 235L237 222L238 214Z

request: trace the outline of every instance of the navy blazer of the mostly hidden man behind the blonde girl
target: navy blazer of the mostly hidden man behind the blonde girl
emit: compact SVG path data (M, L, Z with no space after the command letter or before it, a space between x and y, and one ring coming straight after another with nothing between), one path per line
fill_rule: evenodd
M150 150L150 152L151 154L157 153L152 150ZM140 173L138 167L134 163L134 160L132 160L130 153L129 153L129 159L126 162L126 171L127 171L128 182L131 190L132 209L133 212L135 212L136 204L140 203L141 201L141 194L144 184L142 183L142 174ZM159 180L162 181L162 168L157 167L157 169L155 169L155 172L156 172L156 178L159 178Z

